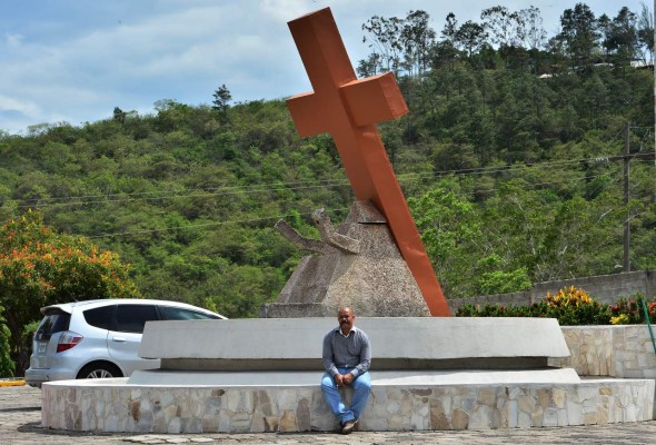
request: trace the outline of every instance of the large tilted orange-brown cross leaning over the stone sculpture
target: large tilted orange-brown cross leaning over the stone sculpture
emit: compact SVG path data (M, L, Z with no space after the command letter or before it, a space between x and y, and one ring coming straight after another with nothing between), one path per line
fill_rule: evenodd
M433 316L449 307L396 180L376 123L408 112L391 72L358 80L329 8L290 21L314 91L287 100L301 137L329 132L358 200L385 215Z

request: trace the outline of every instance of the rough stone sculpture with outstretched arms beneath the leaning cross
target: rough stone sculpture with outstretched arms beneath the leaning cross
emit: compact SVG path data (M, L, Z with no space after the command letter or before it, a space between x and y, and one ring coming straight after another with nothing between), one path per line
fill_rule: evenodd
M282 235L314 255L301 259L276 303L262 307L262 317L334 317L340 306L364 317L430 315L385 217L370 201L355 202L337 229L324 209L312 218L321 240L277 222Z

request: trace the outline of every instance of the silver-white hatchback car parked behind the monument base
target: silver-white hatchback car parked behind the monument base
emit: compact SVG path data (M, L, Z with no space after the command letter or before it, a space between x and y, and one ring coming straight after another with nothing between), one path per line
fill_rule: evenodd
M226 317L185 303L155 299L96 299L41 308L26 383L127 377L159 367L139 357L146 322L216 320Z

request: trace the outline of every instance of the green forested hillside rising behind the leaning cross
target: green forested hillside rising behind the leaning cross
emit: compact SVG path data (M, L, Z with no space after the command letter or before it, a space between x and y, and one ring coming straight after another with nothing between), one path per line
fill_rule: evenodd
M410 108L379 129L446 296L622 271L627 218L632 269L656 268L654 73L632 65L650 59L648 11L579 3L547 39L539 11L497 8L440 32L423 11L364 24L359 73L394 70ZM143 296L229 317L257 316L302 255L278 219L317 237L310 212L338 224L352 200L328 135L300 139L282 100L225 86L211 106L0 132L1 220L38 209L130 263Z

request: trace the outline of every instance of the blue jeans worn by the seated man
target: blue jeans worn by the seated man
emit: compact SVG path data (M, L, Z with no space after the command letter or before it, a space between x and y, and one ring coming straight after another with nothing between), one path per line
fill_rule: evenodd
M337 368L337 370L339 374L348 374L350 369ZM324 378L321 378L324 399L340 424L348 421L357 421L360 414L362 414L371 389L371 376L369 373L361 374L349 386L354 388L354 398L350 408L347 408L344 402L341 402L341 395L337 385L335 385L335 378L328 373L324 374Z

